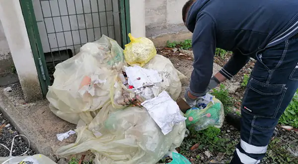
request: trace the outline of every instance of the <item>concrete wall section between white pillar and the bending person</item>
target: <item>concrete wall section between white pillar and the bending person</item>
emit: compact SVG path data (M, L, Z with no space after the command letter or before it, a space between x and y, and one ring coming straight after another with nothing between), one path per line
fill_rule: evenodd
M154 43L155 45L164 45L162 43L166 39L179 41L191 38L182 21L181 10L186 1L146 0L146 36L151 39L159 38L160 42Z

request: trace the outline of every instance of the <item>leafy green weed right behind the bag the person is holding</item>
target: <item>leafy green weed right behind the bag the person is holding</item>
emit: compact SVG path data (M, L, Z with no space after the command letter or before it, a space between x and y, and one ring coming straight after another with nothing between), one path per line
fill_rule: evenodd
M224 84L221 84L219 89L213 89L211 94L223 103L224 113L227 114L233 106L234 100L229 96L228 90L225 89Z

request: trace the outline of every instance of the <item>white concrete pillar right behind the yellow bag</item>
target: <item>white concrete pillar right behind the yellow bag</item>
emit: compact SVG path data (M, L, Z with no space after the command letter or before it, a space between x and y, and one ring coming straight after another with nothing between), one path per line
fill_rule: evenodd
M130 0L131 33L135 38L146 37L145 0Z

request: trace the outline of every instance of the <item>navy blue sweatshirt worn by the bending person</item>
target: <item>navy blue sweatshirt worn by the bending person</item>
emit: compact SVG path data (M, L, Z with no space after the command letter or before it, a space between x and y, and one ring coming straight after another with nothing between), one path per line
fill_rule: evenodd
M197 0L190 7L186 26L193 33L190 90L204 96L215 49L233 52L220 71L232 78L258 51L298 33L298 0Z

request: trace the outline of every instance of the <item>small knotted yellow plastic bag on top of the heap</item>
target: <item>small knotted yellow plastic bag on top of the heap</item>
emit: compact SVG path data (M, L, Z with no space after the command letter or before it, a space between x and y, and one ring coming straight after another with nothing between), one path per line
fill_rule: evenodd
M145 37L134 38L128 34L131 43L125 45L124 56L129 65L143 67L156 55L156 49L151 40Z

